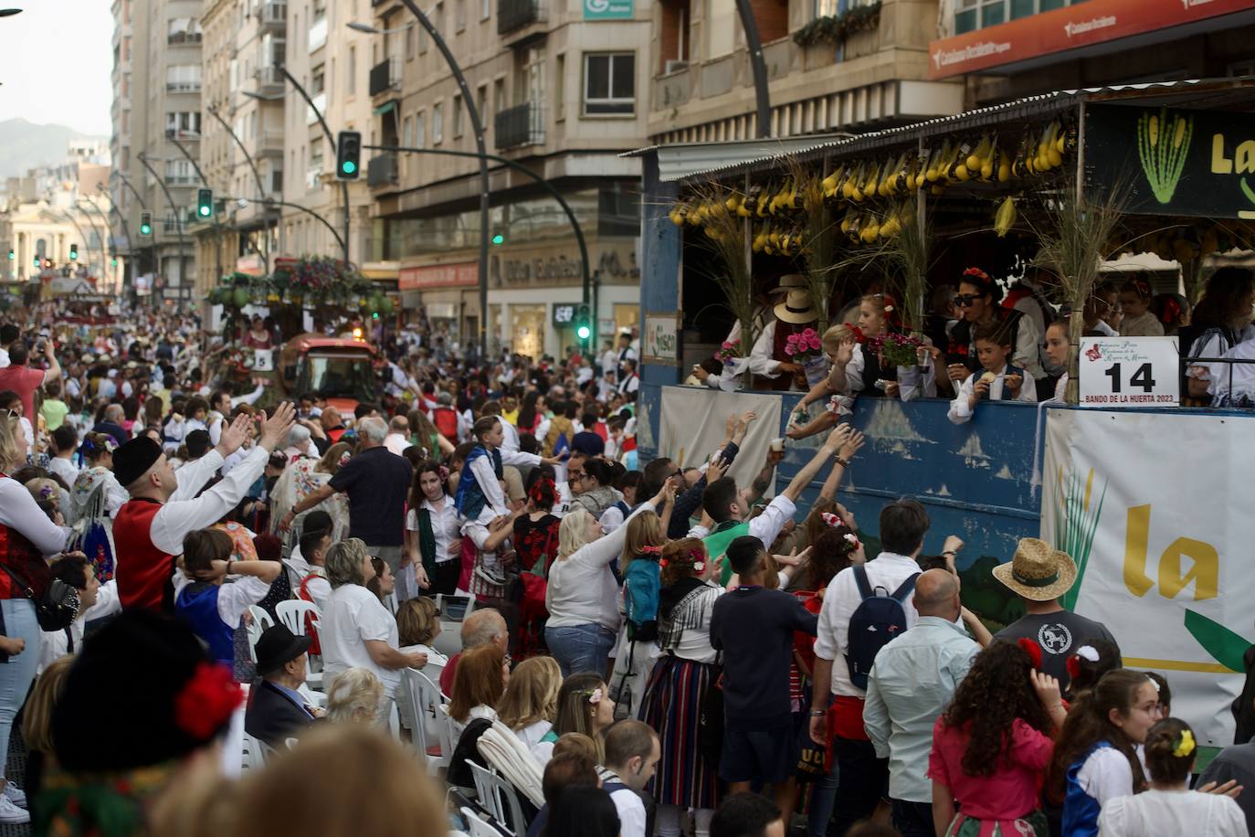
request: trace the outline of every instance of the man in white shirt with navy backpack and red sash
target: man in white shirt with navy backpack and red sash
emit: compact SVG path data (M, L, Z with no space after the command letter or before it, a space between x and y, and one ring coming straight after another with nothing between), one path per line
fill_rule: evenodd
M840 770L840 786L833 804L832 833L843 834L860 819L870 817L885 796L889 759L876 757L876 748L863 728L866 691L855 685L850 660L850 621L865 599L856 570L866 573L867 586L884 590L901 602L907 629L919 621L914 589L902 591L907 581L920 575L916 557L929 531L929 514L914 499L899 499L880 512L882 551L861 567L846 567L832 580L820 611L820 632L814 640L814 694L811 701L811 738L831 742ZM887 641L889 637L886 637ZM832 708L828 709L828 698Z

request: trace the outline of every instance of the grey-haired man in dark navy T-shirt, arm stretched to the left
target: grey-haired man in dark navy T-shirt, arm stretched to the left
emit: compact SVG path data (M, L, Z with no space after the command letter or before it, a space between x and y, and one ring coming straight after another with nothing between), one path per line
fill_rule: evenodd
M397 599L417 595L400 575L404 542L405 494L409 492L412 469L409 461L384 447L388 425L380 418L358 422L358 453L349 459L331 481L310 492L284 514L279 528L286 532L297 514L314 508L336 492L349 496L349 537L361 538L366 551L383 558L397 575ZM369 581L369 578L368 578Z

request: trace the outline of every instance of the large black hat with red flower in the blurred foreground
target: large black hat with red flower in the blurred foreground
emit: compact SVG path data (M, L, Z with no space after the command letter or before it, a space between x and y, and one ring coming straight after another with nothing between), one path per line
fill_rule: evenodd
M53 709L53 747L70 773L129 770L212 742L242 700L183 622L127 610L89 636ZM107 718L107 723L102 723Z

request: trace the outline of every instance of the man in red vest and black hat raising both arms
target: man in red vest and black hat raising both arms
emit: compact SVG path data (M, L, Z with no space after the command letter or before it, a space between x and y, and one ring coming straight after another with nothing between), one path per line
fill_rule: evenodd
M174 556L183 552L188 532L213 526L235 508L266 469L270 454L292 428L295 408L285 402L275 415L261 414L261 438L216 486L197 492L235 453L248 434L251 415L237 415L222 432L217 448L178 469L171 468L161 444L147 435L127 442L113 453L113 474L131 493L113 522L118 555L118 596L123 609L143 607L173 612Z

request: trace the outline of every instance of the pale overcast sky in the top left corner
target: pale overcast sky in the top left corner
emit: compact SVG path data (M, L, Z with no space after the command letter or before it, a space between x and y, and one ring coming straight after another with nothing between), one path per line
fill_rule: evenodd
M0 0L0 122L15 117L108 137L109 0Z

